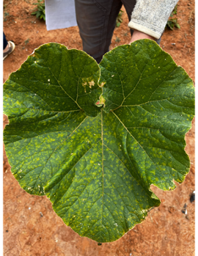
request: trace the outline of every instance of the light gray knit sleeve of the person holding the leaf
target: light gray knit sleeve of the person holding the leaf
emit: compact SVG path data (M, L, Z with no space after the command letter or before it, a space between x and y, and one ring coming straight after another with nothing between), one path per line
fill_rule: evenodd
M177 1L136 0L128 26L159 39Z

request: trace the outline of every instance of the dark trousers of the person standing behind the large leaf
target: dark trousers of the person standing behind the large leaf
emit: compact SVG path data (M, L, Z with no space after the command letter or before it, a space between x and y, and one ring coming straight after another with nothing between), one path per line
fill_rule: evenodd
M98 63L109 51L122 4L128 14L128 20L131 21L131 12L136 0L75 0L76 20L83 41L83 50ZM160 40L157 41L158 44Z

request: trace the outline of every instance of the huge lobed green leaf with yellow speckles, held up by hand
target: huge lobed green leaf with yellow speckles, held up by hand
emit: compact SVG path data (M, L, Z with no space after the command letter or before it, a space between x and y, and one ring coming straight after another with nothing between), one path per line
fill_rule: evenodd
M3 101L4 144L21 187L46 194L65 224L99 244L160 204L151 184L174 189L188 173L195 89L153 40L114 48L100 65L42 45L5 82Z

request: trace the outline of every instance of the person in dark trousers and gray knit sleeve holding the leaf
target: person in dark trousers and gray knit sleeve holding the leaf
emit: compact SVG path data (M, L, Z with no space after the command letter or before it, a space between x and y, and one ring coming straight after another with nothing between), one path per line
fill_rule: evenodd
M158 44L178 0L75 0L83 50L99 63L109 51L122 5L128 14L132 43L149 38Z

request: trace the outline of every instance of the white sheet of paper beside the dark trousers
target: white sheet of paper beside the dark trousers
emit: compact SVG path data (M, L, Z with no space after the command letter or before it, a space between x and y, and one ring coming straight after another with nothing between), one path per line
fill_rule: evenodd
M47 30L77 26L74 0L45 0Z

